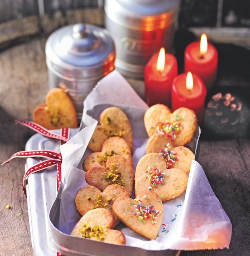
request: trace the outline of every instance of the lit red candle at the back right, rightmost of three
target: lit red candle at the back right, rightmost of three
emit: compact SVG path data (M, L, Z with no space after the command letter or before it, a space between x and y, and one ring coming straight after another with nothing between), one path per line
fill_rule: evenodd
M201 35L201 42L190 43L184 53L184 71L197 74L210 89L216 80L218 66L218 52L211 44L207 44L205 34Z

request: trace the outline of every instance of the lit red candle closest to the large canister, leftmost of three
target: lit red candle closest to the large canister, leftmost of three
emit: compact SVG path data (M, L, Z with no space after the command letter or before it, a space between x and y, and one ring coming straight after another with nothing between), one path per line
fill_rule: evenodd
M145 97L148 106L162 103L171 106L171 86L178 74L177 61L172 54L160 49L155 53L144 69Z

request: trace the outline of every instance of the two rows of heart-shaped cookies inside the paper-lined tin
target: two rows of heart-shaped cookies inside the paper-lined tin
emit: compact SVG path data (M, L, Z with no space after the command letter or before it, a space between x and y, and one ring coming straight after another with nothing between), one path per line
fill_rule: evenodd
M180 108L150 107L144 117L150 137L135 175L132 166L133 134L126 114L117 107L99 117L83 162L89 184L78 190L75 206L82 218L71 235L113 244L126 244L113 230L122 221L134 232L155 239L163 218L163 202L181 195L186 187L194 154L186 147L194 135L197 118ZM134 185L134 187L133 187ZM135 199L131 199L134 188Z

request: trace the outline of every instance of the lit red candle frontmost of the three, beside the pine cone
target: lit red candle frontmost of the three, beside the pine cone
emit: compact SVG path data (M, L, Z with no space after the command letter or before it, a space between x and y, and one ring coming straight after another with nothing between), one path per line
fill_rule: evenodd
M206 86L196 74L180 74L173 80L171 88L172 111L179 107L192 109L199 120L203 119Z

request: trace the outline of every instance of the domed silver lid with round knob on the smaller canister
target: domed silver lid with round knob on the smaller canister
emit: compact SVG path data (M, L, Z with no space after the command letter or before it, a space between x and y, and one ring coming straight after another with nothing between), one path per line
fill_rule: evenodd
M90 78L103 75L104 66L114 62L114 42L106 29L75 24L52 33L45 46L46 62L61 75Z

